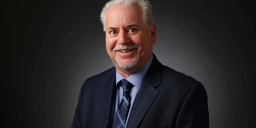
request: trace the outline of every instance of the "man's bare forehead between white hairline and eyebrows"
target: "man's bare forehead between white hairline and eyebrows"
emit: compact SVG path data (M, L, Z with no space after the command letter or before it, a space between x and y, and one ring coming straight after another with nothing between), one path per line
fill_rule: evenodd
M125 6L118 4L106 12L106 26L114 24L139 24L142 22L142 11L137 4Z

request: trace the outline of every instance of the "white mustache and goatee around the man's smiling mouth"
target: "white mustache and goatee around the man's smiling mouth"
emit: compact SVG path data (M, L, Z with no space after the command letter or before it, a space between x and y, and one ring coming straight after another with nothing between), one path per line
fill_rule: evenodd
M138 55L136 56L136 58L132 59L130 62L122 62L121 60L119 60L118 57L116 57L116 51L117 50L122 50L122 49L134 49L134 50L137 49ZM137 45L134 45L134 46L119 46L118 48L114 48L113 52L114 52L115 60L116 60L116 63L118 64L118 66L120 66L121 68L124 68L124 69L133 68L134 66L136 66L136 64L139 61L139 51L138 50L139 49L138 49Z

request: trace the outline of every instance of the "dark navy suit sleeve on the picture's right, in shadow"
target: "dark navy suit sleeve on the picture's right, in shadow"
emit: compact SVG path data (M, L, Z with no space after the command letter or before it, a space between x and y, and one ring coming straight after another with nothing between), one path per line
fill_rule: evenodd
M196 84L184 99L175 128L209 128L207 94L201 83Z

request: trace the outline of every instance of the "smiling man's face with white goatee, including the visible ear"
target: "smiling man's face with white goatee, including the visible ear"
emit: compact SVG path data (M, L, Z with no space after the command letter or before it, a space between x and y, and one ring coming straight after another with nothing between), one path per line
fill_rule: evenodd
M156 27L146 26L137 5L112 6L106 13L106 49L118 70L140 69L150 59Z

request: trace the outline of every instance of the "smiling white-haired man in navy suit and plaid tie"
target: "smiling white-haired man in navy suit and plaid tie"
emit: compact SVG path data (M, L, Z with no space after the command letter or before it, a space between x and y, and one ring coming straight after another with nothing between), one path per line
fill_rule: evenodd
M88 78L72 128L208 128L204 86L163 66L146 0L112 0L101 13L114 68Z

